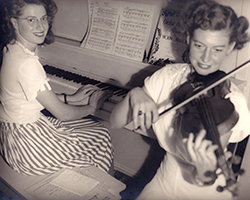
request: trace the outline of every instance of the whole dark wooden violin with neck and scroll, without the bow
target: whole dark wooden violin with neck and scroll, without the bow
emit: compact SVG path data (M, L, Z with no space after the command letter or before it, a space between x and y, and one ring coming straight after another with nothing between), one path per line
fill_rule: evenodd
M197 90L205 88L225 75L226 73L222 71L216 71L207 76L201 76L196 72L192 73L188 77L187 82L173 91L173 104L183 102L185 99L193 96ZM236 175L231 168L231 164L227 161L220 143L220 136L230 131L239 119L234 105L229 99L225 98L230 92L229 88L230 82L225 80L208 90L206 94L200 95L179 108L176 112L174 126L183 138L187 138L191 132L196 135L201 129L206 130L206 139L218 145L218 149L215 151L217 163L226 178L226 186L220 186L217 190L221 192L227 189L233 196L237 196ZM215 173L208 174L210 174L213 180L207 184L213 184L217 176Z

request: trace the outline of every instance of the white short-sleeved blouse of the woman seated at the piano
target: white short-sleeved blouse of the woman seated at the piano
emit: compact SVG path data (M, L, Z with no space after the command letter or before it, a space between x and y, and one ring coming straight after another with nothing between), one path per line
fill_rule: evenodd
M4 49L0 88L0 119L18 124L39 119L43 106L37 92L51 90L38 56L19 42Z

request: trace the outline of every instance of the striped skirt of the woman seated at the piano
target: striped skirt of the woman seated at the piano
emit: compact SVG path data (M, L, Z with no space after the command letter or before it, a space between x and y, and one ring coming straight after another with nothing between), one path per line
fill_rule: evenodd
M24 175L90 165L108 171L114 154L109 131L98 120L61 122L45 116L24 125L0 122L0 153Z

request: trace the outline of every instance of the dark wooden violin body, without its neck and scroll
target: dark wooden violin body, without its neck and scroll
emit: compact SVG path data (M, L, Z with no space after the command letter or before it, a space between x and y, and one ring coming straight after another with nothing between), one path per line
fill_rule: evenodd
M194 72L189 76L187 82L173 91L173 104L179 104L183 100L191 97L195 90L204 88L207 84L210 84L211 81L216 81L225 74L225 72L216 71L207 76L201 76ZM189 133L197 134L204 128L207 132L211 132L213 127L208 125L209 120L214 121L211 126L215 125L220 135L227 133L233 128L239 116L231 101L224 98L226 94L230 92L229 88L230 82L224 81L209 90L207 94L201 95L178 109L176 123L178 127L181 127L180 132L184 138L187 138ZM210 134L207 134L207 139L212 140L209 136Z

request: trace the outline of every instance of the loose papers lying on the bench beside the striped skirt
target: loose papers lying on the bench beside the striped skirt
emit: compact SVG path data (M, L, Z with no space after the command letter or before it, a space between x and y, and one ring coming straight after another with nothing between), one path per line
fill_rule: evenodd
M97 167L62 169L28 187L36 200L117 200L125 184Z

